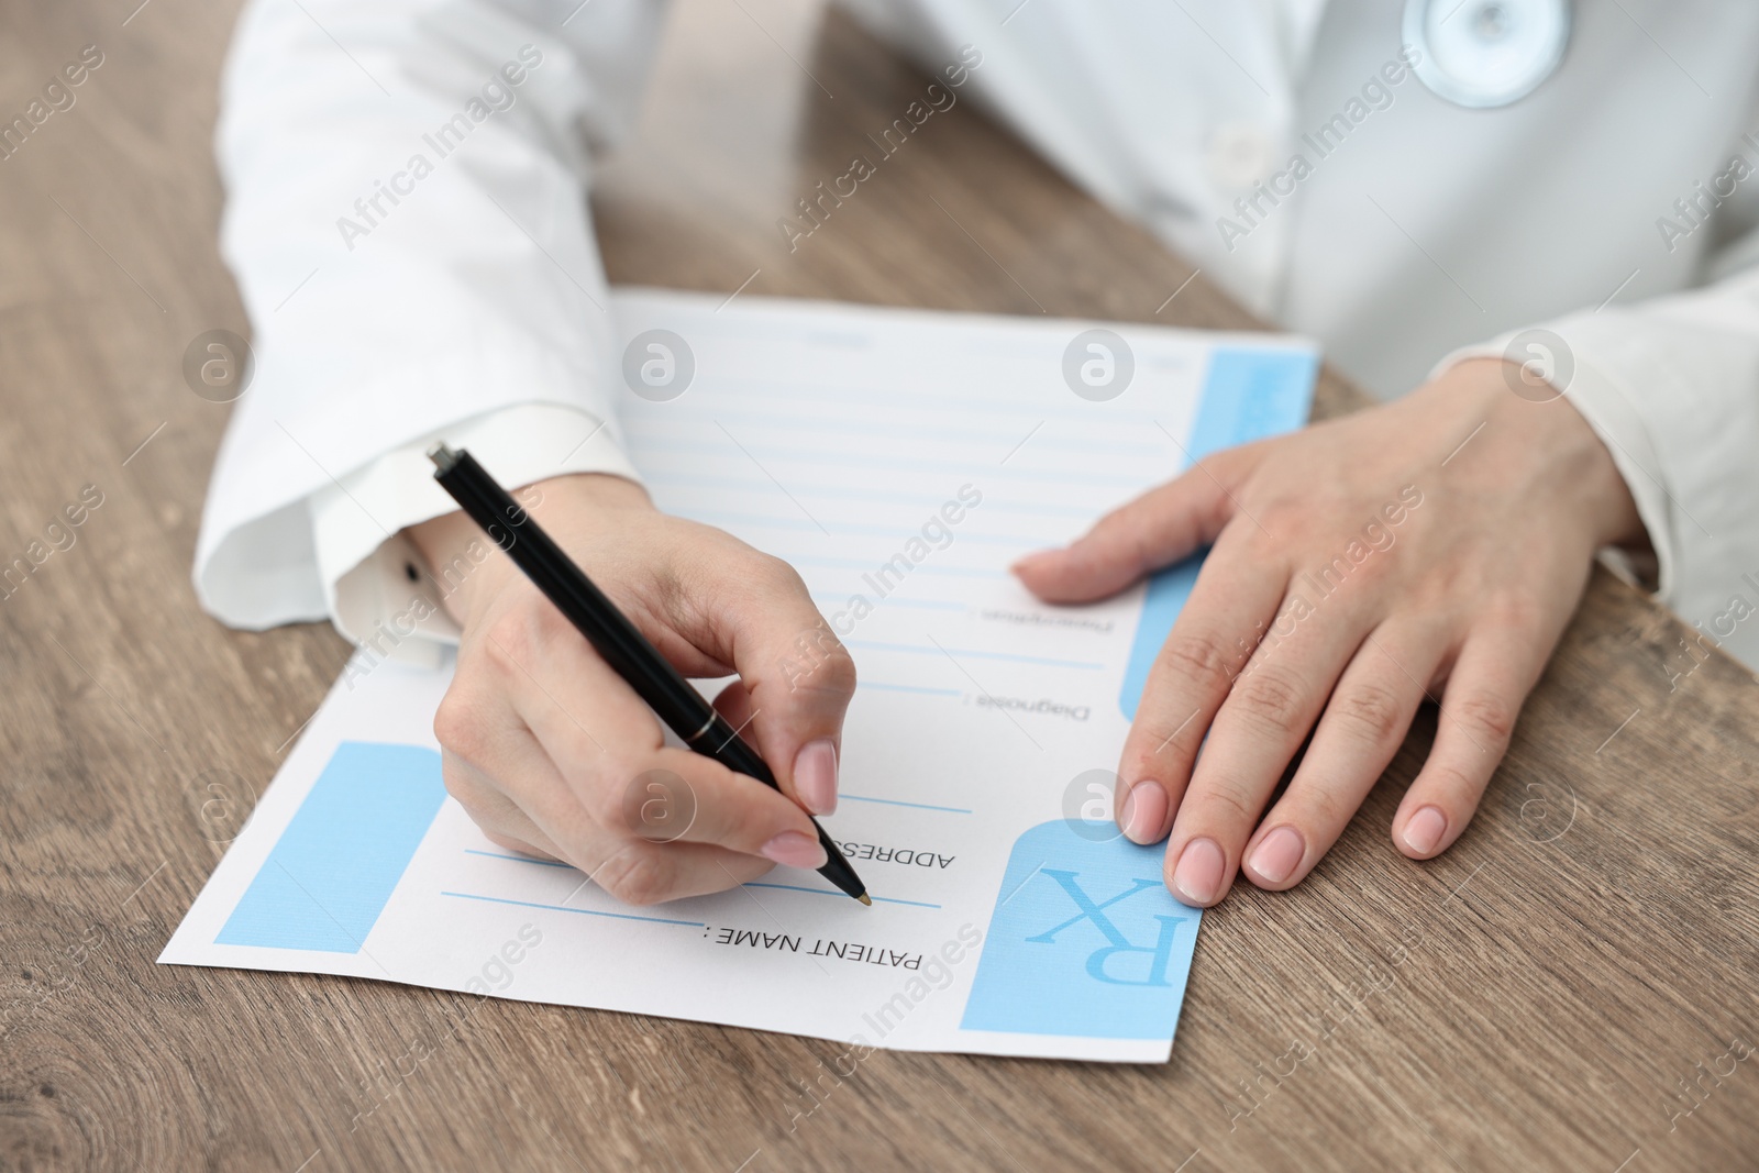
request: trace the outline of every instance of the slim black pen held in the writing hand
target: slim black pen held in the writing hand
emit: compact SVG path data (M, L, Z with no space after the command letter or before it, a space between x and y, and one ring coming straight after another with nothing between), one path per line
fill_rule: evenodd
M470 452L454 452L443 443L427 450L434 463L434 480L452 494L452 499L470 514L489 540L514 565L526 572L536 589L556 603L566 619L580 630L586 642L610 668L628 681L630 688L660 714L660 719L697 753L714 758L739 774L749 774L770 790L781 790L769 765L739 737L684 677L677 674L647 637L642 635L605 593L561 552L561 547L544 533L524 506L507 494ZM807 816L811 818L811 816ZM862 904L872 906L867 885L862 883L843 851L830 841L825 828L813 820L818 842L825 848L825 865L818 874L837 885Z

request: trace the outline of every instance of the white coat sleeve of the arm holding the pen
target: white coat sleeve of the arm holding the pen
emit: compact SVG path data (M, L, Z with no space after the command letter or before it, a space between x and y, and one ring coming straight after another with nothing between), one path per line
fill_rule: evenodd
M331 616L366 640L406 612L396 535L452 508L420 457L434 438L515 485L633 477L586 188L633 118L663 9L246 5L216 151L255 375L197 542L211 614Z

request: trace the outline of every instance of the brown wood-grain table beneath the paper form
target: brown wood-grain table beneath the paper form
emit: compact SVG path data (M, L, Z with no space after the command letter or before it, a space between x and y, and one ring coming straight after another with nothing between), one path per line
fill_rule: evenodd
M1307 883L1240 885L1207 918L1166 1066L876 1053L790 1126L839 1046L155 965L347 647L222 630L190 589L227 408L181 355L245 331L209 157L236 5L135 4L0 19L7 116L81 46L106 53L0 162L0 556L83 485L104 496L0 607L0 1168L1759 1161L1759 1062L1731 1053L1759 1020L1759 688L1604 573L1467 835L1428 865L1388 842L1430 716ZM971 104L790 253L776 218L923 84L813 0L681 4L595 202L614 280L1252 325ZM1358 403L1326 376L1323 413Z

